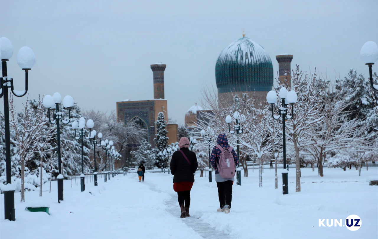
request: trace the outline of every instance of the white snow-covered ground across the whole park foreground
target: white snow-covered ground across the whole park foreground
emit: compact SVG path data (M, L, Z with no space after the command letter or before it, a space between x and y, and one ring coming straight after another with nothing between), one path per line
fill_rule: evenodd
M269 167L269 166L268 166ZM280 170L279 170L280 172ZM242 172L243 173L243 172ZM4 197L0 197L0 238L378 238L378 167L352 170L302 169L302 192L295 193L294 169L289 171L289 194L274 188L274 170L265 169L263 187L258 171L249 170L242 185L233 186L231 213L217 212L217 187L208 175L197 171L191 192L191 217L180 218L172 175L146 172L138 182L136 173L117 175L99 186L87 182L80 192L71 180L64 181L64 201L57 202L57 185L48 184L43 197L38 191L15 193L16 221L3 219ZM214 175L213 175L214 177ZM279 175L279 185L281 185ZM28 203L42 200L50 205L50 215L25 211ZM350 214L361 218L361 228L319 227L319 219L342 219ZM324 221L326 224L326 221Z

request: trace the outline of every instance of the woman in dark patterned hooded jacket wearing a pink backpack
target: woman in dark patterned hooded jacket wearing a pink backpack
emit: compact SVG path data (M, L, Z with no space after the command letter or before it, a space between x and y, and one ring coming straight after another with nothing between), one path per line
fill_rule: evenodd
M225 134L218 135L217 145L210 156L211 166L215 169L220 208L217 211L229 213L231 209L232 184L235 181L236 165L239 159L235 150L228 145Z

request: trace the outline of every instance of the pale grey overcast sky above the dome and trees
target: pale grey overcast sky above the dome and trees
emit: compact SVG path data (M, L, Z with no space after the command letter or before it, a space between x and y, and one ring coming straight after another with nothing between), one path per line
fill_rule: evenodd
M275 56L288 53L292 68L317 67L331 80L353 68L367 78L359 51L378 43L378 1L0 0L0 36L13 44L8 75L17 90L24 89L16 61L22 46L36 55L30 98L59 92L82 109L108 112L116 101L152 99L150 64L162 62L168 115L178 123L205 84L215 87L215 61L243 30L270 54L275 77Z

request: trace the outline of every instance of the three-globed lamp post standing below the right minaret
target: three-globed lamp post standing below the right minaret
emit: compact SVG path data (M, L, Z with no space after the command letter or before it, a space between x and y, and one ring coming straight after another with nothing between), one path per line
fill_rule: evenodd
M288 170L286 169L286 135L285 135L285 121L286 119L291 119L294 116L294 104L297 102L297 93L294 90L290 90L287 92L285 87L282 87L279 91L279 97L282 99L282 106L279 108L280 115L275 116L273 106L277 102L277 94L273 90L268 92L266 95L266 101L271 105L272 117L273 119L280 119L282 115L282 151L283 151L283 172L282 172L282 194L289 193L289 186L288 186ZM291 116L287 115L287 106L288 104L291 105Z

